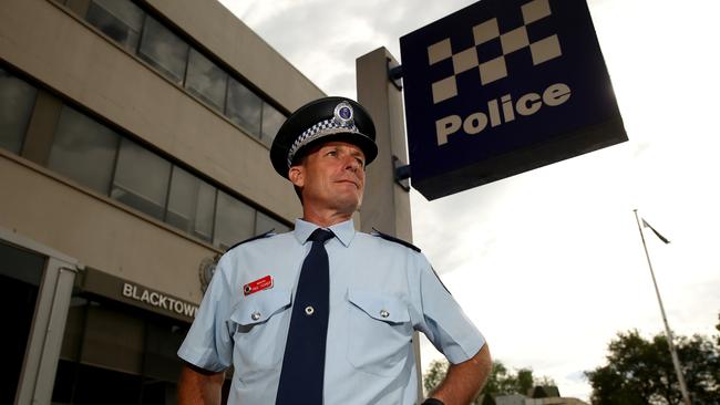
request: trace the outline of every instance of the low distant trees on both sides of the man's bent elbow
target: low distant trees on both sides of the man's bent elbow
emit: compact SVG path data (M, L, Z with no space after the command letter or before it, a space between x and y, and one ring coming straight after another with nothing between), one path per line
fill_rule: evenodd
M445 360L433 360L430 363L430 368L422 378L425 393L430 393L440 385L448 373L448 361ZM535 385L555 385L555 382L547 376L543 376L539 380L533 377L533 371L531 368L520 368L516 373L513 373L501 361L493 361L493 368L487 378L487 383L485 383L480 394L490 394L492 396L511 394L527 395Z

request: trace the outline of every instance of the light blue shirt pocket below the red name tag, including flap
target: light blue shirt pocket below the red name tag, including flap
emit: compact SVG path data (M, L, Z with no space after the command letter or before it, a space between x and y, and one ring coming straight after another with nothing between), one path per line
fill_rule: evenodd
M278 367L290 302L290 290L274 288L244 297L233 311L229 326L239 359L235 373L240 378Z

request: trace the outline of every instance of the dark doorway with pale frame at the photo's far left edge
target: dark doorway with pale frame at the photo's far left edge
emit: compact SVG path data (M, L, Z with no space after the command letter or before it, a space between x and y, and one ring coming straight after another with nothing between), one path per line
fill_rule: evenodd
M0 404L50 404L78 261L0 227Z

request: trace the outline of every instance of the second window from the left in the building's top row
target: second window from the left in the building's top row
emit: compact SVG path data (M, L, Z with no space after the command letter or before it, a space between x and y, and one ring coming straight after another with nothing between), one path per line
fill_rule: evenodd
M145 17L138 54L167 79L182 85L189 45L154 18Z

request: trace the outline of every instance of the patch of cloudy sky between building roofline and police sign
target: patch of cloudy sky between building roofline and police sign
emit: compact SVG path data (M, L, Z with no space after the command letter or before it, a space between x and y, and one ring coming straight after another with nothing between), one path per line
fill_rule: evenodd
M354 60L380 46L400 59L399 38L472 1L222 0L326 93L356 97Z

